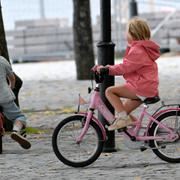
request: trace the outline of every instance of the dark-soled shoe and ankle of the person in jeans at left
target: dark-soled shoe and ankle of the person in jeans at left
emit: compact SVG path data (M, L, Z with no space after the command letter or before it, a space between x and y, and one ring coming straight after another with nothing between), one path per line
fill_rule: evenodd
M11 138L24 149L29 149L31 147L31 143L26 139L25 127L20 121L15 122Z

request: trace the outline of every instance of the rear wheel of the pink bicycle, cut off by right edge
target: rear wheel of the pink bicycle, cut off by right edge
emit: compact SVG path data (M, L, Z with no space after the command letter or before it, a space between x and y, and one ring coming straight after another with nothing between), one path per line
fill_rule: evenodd
M170 111L157 118L158 121L180 134L180 112ZM166 136L169 133L158 124L153 123L149 131L150 136ZM153 152L162 160L170 163L180 162L180 138L176 141L150 140Z

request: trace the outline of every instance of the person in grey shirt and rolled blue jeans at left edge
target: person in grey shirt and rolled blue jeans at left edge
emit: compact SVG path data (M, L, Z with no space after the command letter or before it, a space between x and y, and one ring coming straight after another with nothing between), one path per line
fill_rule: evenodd
M9 83L8 83L8 81ZM15 76L8 61L0 56L0 106L3 114L13 121L11 138L18 142L24 149L31 147L30 142L24 137L26 117L15 104L15 95L12 89L15 86Z

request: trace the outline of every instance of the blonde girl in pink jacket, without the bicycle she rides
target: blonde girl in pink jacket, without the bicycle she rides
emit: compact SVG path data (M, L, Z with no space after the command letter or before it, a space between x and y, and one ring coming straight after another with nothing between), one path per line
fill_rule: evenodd
M158 67L155 61L160 56L160 50L150 37L146 21L139 18L130 20L126 31L128 47L123 63L93 68L97 72L108 69L109 75L122 75L126 80L124 85L111 86L105 92L116 111L115 121L108 127L110 131L134 124L130 113L146 98L158 95ZM127 100L122 103L120 98Z

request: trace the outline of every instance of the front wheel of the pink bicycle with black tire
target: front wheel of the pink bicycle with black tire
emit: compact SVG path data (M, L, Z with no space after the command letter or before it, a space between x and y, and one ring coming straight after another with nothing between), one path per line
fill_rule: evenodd
M82 115L70 116L62 120L53 132L52 146L54 153L61 162L63 162L68 166L72 166L72 167L88 166L92 164L94 161L96 161L96 159L100 156L102 152L103 144L104 144L102 131L99 128L99 126L93 121L90 122L88 132L84 136L82 142L80 144L76 143L75 139L82 130L83 120L85 120L85 118L86 117ZM76 130L78 132L76 132ZM66 133L65 136L63 136L63 132ZM72 143L69 144L69 142L71 142L70 141L71 137L73 138ZM91 143L92 144L95 143L93 144L93 146L95 145L95 147L91 147L90 145ZM83 146L84 144L85 146ZM90 154L91 148L92 148L92 153ZM88 150L87 152L86 149ZM88 153L90 155L88 155ZM80 158L81 155L84 156L83 160L76 159L77 158L76 156ZM87 158L85 157L86 155L88 155Z

